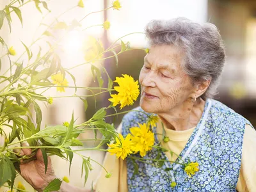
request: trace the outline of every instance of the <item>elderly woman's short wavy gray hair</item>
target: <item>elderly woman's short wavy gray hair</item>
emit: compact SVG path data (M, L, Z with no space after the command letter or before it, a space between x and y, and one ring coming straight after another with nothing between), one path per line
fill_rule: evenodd
M202 99L212 98L225 63L224 45L216 26L198 24L186 18L151 20L146 28L150 45L175 45L184 52L182 68L192 83L211 79Z

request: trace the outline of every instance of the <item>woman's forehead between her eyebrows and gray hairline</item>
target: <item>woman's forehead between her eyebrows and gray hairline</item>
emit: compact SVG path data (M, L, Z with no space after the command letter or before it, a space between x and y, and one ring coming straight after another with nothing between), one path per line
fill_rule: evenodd
M182 53L174 45L153 45L145 56L145 61L159 68L180 69Z

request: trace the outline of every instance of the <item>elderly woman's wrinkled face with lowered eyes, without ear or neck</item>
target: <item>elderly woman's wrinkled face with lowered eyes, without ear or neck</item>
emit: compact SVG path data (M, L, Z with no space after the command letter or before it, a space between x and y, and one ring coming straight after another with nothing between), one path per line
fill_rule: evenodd
M193 84L182 70L182 53L173 45L154 45L140 71L140 106L148 113L168 113L195 97Z

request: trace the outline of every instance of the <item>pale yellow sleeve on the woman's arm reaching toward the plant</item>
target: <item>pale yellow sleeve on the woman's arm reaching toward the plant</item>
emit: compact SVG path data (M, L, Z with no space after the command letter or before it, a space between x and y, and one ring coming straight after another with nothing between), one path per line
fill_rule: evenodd
M122 131L122 124L118 126L117 132ZM123 159L116 159L109 152L106 153L103 162L104 168L111 173L110 178L106 178L106 171L101 170L94 187L99 192L128 192L127 186L127 166Z

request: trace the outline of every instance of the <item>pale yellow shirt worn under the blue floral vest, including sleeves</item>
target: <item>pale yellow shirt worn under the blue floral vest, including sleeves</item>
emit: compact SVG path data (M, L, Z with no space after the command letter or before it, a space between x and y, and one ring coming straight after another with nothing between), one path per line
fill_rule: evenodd
M166 136L170 138L170 141L163 143L164 148L169 148L175 154L179 155L188 142L195 127L186 131L173 131L166 129ZM122 126L118 127L118 132L121 132ZM157 124L157 133L162 133L161 122ZM159 134L157 135L158 137ZM159 138L161 140L161 138ZM241 160L241 169L239 179L237 182L237 191L256 191L256 131L250 126L245 126L244 139L243 139L243 151ZM170 161L175 161L177 156L171 156L170 153L166 153L166 156ZM106 179L106 172L101 172L97 179L95 186L96 191L100 192L127 192L127 166L125 160L115 156L106 154L103 166L112 173L112 177Z

